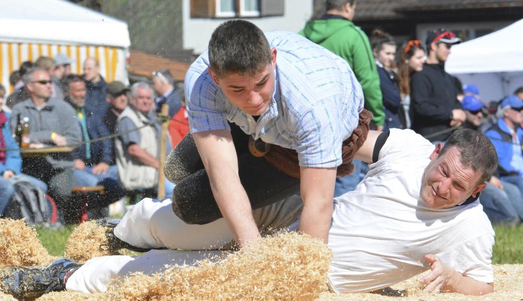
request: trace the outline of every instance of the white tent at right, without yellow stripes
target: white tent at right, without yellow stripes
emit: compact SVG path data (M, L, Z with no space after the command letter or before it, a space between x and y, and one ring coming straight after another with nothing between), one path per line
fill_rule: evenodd
M523 86L523 19L483 37L452 46L445 69L463 85L480 88L484 102Z

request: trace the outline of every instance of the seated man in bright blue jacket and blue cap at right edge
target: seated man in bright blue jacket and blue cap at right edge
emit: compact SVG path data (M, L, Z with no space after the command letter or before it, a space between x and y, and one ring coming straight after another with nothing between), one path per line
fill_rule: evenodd
M503 117L485 132L496 148L499 165L497 175L504 181L518 186L523 194L523 101L516 95L506 97L500 105ZM519 204L523 199L517 200Z

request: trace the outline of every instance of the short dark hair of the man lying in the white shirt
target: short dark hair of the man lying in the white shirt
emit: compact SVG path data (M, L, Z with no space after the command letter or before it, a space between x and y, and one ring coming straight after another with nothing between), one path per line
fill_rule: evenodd
M447 139L439 155L456 147L460 153L461 164L471 167L474 172L481 172L476 185L491 178L497 168L497 153L490 139L473 129L459 129Z

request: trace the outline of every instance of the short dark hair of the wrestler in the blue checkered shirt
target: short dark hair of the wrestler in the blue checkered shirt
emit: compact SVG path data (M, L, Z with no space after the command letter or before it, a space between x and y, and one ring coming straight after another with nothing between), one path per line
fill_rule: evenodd
M251 22L222 23L209 41L209 63L218 77L226 74L253 76L271 62L265 34Z

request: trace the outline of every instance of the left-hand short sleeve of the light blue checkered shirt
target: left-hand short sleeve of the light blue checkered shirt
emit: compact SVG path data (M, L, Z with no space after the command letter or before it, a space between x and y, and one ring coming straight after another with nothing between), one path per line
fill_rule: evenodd
M220 88L212 80L202 57L198 58L187 70L185 91L191 133L230 129L227 122L225 98Z

